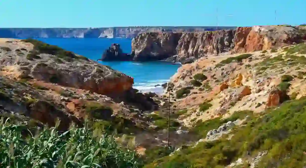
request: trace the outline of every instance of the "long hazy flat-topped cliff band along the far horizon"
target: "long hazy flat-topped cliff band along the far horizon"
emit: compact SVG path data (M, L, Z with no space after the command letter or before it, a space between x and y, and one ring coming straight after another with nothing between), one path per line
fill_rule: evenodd
M236 27L218 27L218 30ZM0 28L0 38L134 38L145 32L203 32L217 27Z

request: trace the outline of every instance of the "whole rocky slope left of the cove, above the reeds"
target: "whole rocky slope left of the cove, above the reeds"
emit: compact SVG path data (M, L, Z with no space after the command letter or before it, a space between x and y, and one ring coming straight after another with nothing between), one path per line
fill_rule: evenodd
M1 115L49 126L59 118L63 130L89 116L141 130L156 106L130 76L36 40L0 38L0 63Z

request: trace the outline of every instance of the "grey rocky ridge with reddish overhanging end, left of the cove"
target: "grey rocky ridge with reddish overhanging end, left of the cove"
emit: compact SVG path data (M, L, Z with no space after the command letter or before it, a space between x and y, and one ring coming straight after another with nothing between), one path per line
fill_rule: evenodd
M35 44L34 50L32 43ZM4 54L17 56L11 59L0 57L1 68L14 71L18 78L33 78L103 95L125 93L133 86L132 77L108 66L60 49L57 52L64 52L63 55L48 54L47 48L36 50L37 45L43 43L32 43L20 40L7 43L12 51ZM20 48L26 51L17 50L16 53L15 50Z

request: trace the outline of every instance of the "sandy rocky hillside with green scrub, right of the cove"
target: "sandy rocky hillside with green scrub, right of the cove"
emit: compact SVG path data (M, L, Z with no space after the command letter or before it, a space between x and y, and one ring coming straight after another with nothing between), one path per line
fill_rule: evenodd
M197 141L145 167L305 166L306 42L263 44L263 51L208 55L179 68L165 97L170 92L179 113L172 118L188 127L182 134Z

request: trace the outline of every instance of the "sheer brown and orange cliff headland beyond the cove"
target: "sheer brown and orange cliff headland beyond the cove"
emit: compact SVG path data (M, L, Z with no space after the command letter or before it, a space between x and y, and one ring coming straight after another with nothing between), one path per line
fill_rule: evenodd
M297 44L306 39L304 26L254 26L194 33L140 33L132 41L134 60L191 63L208 53L245 53Z

